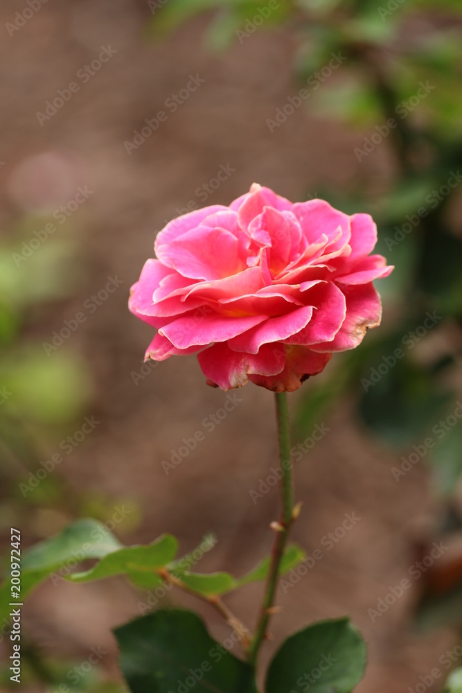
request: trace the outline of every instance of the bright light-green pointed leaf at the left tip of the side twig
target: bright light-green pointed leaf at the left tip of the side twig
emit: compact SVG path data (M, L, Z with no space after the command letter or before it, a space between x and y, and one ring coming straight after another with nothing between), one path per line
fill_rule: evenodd
M178 542L171 534L163 534L148 546L129 546L104 556L99 563L85 572L69 575L72 582L100 580L113 575L126 574L134 584L155 587L162 579L153 572L163 568L175 558Z

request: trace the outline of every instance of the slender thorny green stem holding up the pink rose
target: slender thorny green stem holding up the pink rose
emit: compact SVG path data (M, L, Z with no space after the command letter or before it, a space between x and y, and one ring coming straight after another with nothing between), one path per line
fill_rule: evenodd
M279 569L281 567L290 527L295 519L292 489L292 462L290 460L289 411L287 408L287 394L285 392L276 392L276 416L278 421L279 459L281 464L282 509L281 520L272 525L272 528L276 531L276 538L274 539L272 559L269 566L260 615L258 617L255 635L249 648L249 663L254 666L256 665L260 646L267 634L269 619L272 613L274 613L273 604L277 590Z

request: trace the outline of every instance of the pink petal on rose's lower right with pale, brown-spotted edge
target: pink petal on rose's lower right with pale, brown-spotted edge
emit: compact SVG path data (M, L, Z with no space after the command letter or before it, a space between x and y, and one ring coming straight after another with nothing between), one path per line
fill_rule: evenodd
M346 318L332 342L313 344L313 351L346 351L361 344L366 331L380 324L382 304L373 283L346 288Z

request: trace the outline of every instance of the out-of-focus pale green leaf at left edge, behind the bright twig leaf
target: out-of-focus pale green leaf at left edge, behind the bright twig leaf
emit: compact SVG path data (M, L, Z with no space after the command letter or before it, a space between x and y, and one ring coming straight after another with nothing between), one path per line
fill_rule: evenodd
M21 600L46 577L56 573L62 577L69 571L71 561L102 558L117 551L121 543L97 520L78 520L45 541L41 541L21 554ZM8 616L10 608L10 581L0 588L0 617Z

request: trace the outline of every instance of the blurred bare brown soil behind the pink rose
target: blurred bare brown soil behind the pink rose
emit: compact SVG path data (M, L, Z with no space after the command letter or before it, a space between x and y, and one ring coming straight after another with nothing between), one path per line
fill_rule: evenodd
M21 8L3 1L2 30ZM249 496L276 464L272 396L253 385L238 392L242 402L236 410L167 476L161 460L183 437L202 429L202 420L222 406L225 394L206 387L194 358L172 358L134 385L130 374L141 367L151 330L127 311L130 284L152 254L155 231L189 200L202 204L195 190L216 175L220 164L236 172L206 204L227 204L254 180L293 199L316 196L319 182L347 186L355 176L373 177L381 186L389 175L389 154L384 146L359 166L353 147L362 134L315 117L309 107L269 132L265 120L299 89L292 71L296 37L289 30L256 33L226 53L211 55L202 44L202 21L154 44L143 36L148 17L144 3L130 0L50 0L12 37L3 31L1 220L9 222L19 213L10 179L21 161L47 150L77 157L79 182L94 191L69 230L80 248L80 288L57 304L41 337L48 339L73 317L105 286L108 275L117 274L124 283L62 347L89 362L96 394L88 413L101 423L58 473L76 492L101 490L139 504L141 525L125 541L149 542L168 531L188 550L212 529L218 543L201 569L242 574L269 551L268 525L277 514L274 491L256 505ZM107 44L117 50L114 58L41 127L35 113ZM206 81L128 156L124 141L186 85L190 73ZM358 693L407 691L420 674L438 666L456 635L411 633L408 614L415 593L403 596L375 624L367 609L405 577L412 526L436 511L427 475L418 467L396 483L390 473L393 455L359 427L350 403L339 403L326 425L331 432L297 466L296 496L304 505L294 540L312 553L345 513L354 511L362 519L299 584L279 594L283 613L272 622L274 643L267 645L265 657L303 624L348 613L369 648ZM260 586L251 586L228 601L251 624L259 594ZM45 653L56 656L85 660L91 646L101 645L109 654L100 667L112 675L116 647L109 629L137 615L139 599L118 580L46 584L24 608L24 626ZM193 604L183 595L174 599ZM194 605L216 638L229 635L213 611ZM441 687L439 682L429 690Z

